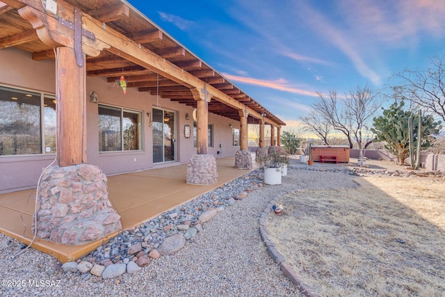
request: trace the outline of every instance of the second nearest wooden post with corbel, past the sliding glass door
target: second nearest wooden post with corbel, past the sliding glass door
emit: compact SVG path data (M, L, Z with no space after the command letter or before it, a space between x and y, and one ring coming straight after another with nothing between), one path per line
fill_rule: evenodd
M196 127L197 127L197 154L207 154L207 147L209 146L209 111L207 104L210 102L211 95L206 93L206 90L198 90L197 88L190 89L193 94L193 99L196 101Z

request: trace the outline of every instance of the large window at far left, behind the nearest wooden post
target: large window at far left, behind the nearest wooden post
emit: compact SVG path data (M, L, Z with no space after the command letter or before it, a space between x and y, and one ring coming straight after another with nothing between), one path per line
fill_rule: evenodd
M0 86L0 155L56 152L56 97Z

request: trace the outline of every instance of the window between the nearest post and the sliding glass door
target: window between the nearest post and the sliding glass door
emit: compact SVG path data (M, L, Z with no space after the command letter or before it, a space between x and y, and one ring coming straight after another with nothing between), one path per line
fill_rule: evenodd
M99 104L99 152L142 150L142 113Z

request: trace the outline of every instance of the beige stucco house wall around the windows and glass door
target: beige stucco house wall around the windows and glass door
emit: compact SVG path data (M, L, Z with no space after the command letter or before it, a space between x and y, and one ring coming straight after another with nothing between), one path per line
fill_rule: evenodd
M54 61L33 61L31 54L25 51L1 49L0 69L0 85L2 86L55 93ZM142 150L99 152L99 104L90 102L88 95L91 90L99 95L99 104L142 112ZM87 77L86 91L87 163L99 166L107 175L187 163L188 159L196 153L196 148L193 147L193 108L191 106L172 102L160 96L158 99L156 95L138 92L137 88L128 88L127 94L124 95L121 88L113 87L113 83L107 83L103 77ZM153 163L152 127L149 127L147 113L152 114L152 109L157 108L156 106L159 106L159 109L175 112L176 161ZM186 113L189 114L188 120L186 120ZM233 128L229 127L229 124L232 124L233 128L240 128L238 121L209 113L209 125L213 125L213 147L209 147L208 153L216 158L234 156L240 149L239 146L232 145ZM191 138L184 137L184 125L191 126ZM54 161L55 157L56 154L0 156L0 193L34 187L42 169ZM184 172L184 179L185 175L186 172Z

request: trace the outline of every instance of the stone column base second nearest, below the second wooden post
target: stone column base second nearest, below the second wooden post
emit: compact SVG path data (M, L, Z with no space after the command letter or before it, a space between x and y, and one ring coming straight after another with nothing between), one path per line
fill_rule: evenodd
M194 154L187 164L187 184L214 184L218 179L216 159L211 154Z

